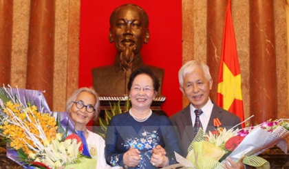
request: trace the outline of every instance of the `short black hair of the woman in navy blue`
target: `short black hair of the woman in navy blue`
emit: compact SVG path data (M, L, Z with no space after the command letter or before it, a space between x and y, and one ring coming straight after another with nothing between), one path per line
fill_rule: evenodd
M156 92L158 92L158 89L160 88L160 80L158 79L158 77L156 77L155 72L153 72L153 70L151 70L147 66L140 67L131 73L131 76L129 77L129 83L127 83L127 90L131 90L133 80L139 74L147 74L149 77L151 77L151 79L153 80L153 88Z

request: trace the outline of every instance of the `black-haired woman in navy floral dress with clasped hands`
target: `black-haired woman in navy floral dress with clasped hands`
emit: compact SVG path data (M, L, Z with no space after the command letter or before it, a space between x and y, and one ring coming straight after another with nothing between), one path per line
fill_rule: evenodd
M150 106L160 83L149 68L131 73L127 89L131 109L113 117L105 137L105 157L111 166L124 168L162 168L175 163L180 153L171 122L156 115Z

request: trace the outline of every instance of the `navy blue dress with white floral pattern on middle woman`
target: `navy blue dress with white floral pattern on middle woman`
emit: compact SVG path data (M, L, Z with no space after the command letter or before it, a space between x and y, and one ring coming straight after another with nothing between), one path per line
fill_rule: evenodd
M180 154L178 136L171 121L153 113L144 122L138 122L129 112L113 117L105 137L105 158L111 166L125 166L122 157L129 148L140 150L140 163L135 168L156 168L151 161L153 148L162 146L167 152L169 163L176 163L174 151Z

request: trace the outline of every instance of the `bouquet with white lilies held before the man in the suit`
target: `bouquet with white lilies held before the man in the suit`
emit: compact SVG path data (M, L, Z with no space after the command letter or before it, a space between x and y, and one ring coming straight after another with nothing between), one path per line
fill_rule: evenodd
M287 153L286 137L289 136L288 119L265 121L257 126L244 129L217 127L205 134L201 129L189 146L186 159L176 155L177 161L190 168L223 168L226 157L257 168L270 168L265 159L257 157L272 146L279 146Z

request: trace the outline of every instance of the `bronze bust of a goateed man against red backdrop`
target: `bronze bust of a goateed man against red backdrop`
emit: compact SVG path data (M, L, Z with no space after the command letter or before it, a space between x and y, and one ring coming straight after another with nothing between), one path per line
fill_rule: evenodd
M142 44L149 41L149 18L139 6L125 4L112 12L109 22L109 42L114 42L117 54L113 65L92 69L94 89L100 95L124 95L128 93L127 82L131 72L147 66L142 62L140 50ZM160 94L164 70L148 67L160 80Z

